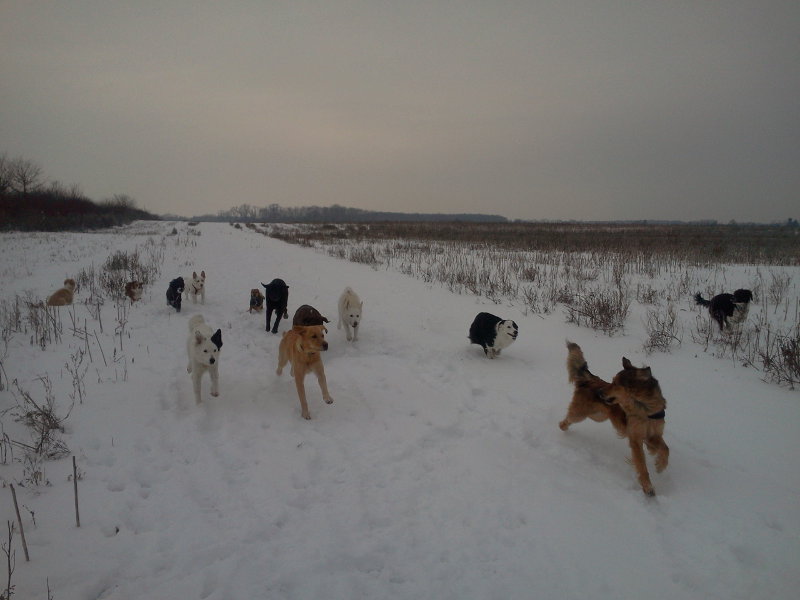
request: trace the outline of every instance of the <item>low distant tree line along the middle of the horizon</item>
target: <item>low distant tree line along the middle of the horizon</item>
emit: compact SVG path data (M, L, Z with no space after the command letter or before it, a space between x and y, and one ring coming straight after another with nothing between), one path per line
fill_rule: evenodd
M506 223L500 215L449 214L449 213L401 213L332 206L283 207L270 204L256 207L249 204L221 210L216 215L194 217L198 221L241 221L258 223L366 223L382 221L470 221L480 223Z

